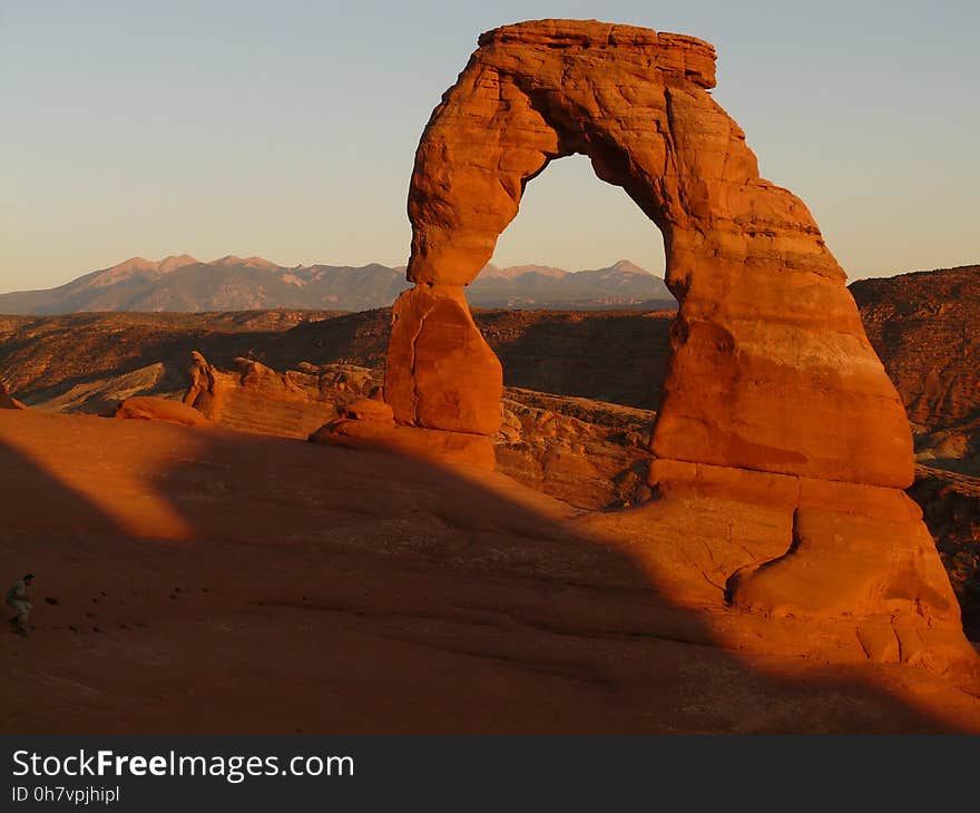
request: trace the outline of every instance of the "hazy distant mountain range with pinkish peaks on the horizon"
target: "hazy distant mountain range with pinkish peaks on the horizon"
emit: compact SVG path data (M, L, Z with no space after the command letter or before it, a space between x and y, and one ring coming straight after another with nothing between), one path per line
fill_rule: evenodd
M50 315L89 311L366 311L390 305L409 283L404 267L285 267L262 257L202 263L182 254L158 262L133 257L46 291L0 294L0 313ZM478 307L604 310L676 307L660 277L628 259L568 272L542 265L487 265L467 290Z

